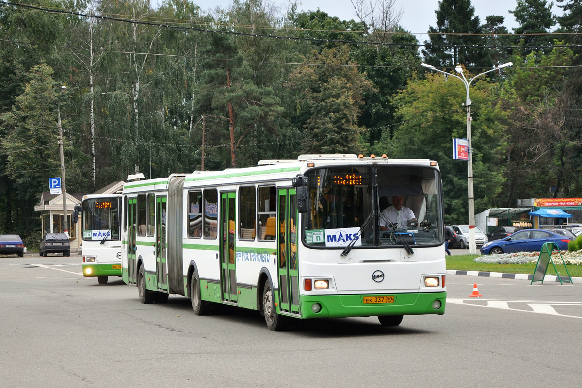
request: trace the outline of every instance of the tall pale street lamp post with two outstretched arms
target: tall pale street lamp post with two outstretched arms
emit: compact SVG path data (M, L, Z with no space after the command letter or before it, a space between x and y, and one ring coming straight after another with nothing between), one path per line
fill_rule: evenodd
M469 161L467 161L467 192L469 196L469 251L471 254L477 254L477 244L475 244L475 198L473 194L473 144L471 143L471 98L469 98L469 87L473 80L483 74L494 72L495 70L503 69L503 67L508 67L513 65L512 62L503 63L503 65L499 65L495 69L487 70L487 72L483 72L477 74L469 81L465 78L463 74L463 67L456 66L455 71L461 76L457 76L452 73L443 72L443 70L439 70L434 66L428 65L427 63L421 63L420 66L426 67L427 69L434 70L435 72L447 74L449 76L456 77L463 81L466 90L466 100L465 106L467 108L467 140L469 140Z

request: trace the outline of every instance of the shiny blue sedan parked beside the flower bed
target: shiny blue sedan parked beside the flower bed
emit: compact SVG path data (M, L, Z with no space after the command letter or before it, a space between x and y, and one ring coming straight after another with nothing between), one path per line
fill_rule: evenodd
M551 230L526 229L510 234L501 240L493 240L481 247L481 254L512 252L539 252L545 243L556 243L560 251L568 250L570 239Z

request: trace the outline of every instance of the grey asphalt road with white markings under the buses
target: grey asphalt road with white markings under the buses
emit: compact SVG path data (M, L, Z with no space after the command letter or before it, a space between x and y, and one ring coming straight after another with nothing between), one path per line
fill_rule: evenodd
M297 321L140 304L79 256L0 258L5 387L544 387L580 385L582 284L447 276L443 316ZM470 297L474 283L482 297Z

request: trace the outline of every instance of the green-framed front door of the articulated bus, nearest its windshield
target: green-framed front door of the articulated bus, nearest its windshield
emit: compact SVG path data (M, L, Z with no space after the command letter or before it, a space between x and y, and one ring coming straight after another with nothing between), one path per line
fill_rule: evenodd
M279 189L277 212L279 306L281 311L301 314L297 260L297 202L294 188Z

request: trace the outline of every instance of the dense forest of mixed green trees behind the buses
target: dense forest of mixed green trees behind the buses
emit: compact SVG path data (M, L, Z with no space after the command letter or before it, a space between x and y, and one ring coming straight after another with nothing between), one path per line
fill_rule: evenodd
M445 222L467 221L471 85L475 213L520 198L582 197L582 0L518 0L519 27L442 0L427 41L393 0L354 0L356 20L234 0L0 1L0 233L40 240L34 205L60 176L69 193L256 165L299 154L439 162ZM552 30L551 30L552 29ZM61 87L66 91L61 92Z

